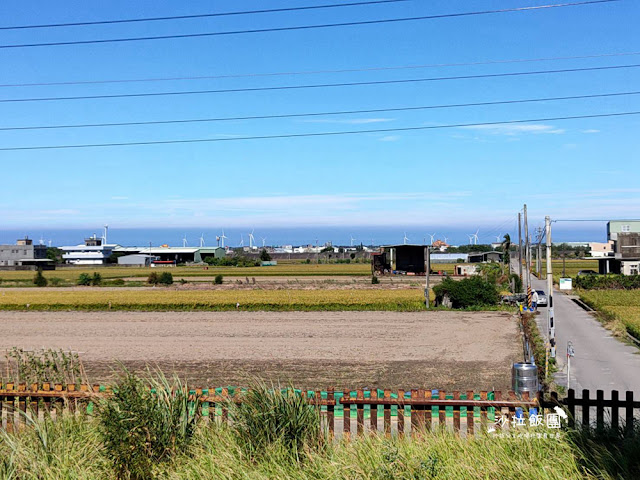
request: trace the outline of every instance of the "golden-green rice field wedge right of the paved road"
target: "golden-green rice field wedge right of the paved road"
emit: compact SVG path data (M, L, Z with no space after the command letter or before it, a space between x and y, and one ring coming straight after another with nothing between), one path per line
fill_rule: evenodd
M640 290L588 290L580 298L605 315L619 319L627 331L640 339Z

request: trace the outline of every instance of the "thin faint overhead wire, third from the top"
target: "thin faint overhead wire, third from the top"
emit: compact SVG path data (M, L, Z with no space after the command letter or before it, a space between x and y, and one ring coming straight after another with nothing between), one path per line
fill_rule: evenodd
M169 82L183 80L216 80L223 78L254 78L254 77L277 77L277 76L296 76L296 75L320 75L334 73L357 73L357 72L377 72L391 70L411 70L421 68L442 68L442 67L467 67L479 65L496 65L506 63L526 63L526 62L546 62L557 60L583 60L591 58L606 57L623 57L640 55L640 52L619 52L619 53L601 53L594 55L578 55L569 57L541 57L541 58L518 58L507 60L487 60L482 62L463 62L463 63L432 63L425 65L395 65L369 68L346 68L338 70L303 70L297 72L272 72L272 73L236 73L228 75L202 75L190 77L156 77L156 78L130 78L130 79L114 79L114 80L85 80L85 81L68 81L68 82L37 82L37 83L7 83L0 84L0 88L8 87L42 87L42 86L58 86L58 85L94 85L108 83L143 83L143 82Z

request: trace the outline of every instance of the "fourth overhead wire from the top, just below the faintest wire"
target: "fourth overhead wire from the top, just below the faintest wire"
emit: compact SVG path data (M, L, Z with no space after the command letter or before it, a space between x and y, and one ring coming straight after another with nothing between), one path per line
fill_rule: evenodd
M536 70L530 72L502 72L502 73L484 73L480 75L456 75L451 77L427 77L427 78L405 78L400 80L372 80L364 82L341 82L341 83L319 83L306 85L277 85L273 87L245 87L245 88L224 88L216 90L187 90L187 91L170 91L170 92L147 92L147 93L118 93L111 95L80 95L74 97L36 97L36 98L6 98L0 99L0 103L16 103L16 102L44 102L44 101L61 101L61 100L97 100L105 98L136 98L136 97L164 97L171 95L203 95L214 93L238 93L238 92L263 92L274 90L302 90L310 88L330 88L330 87L356 87L364 85L393 85L406 83L421 82L437 82L445 80L471 80L477 78L497 78L497 77L518 77L523 75L547 75L555 73L572 73L572 72L592 72L598 70L616 70L626 68L637 68L640 64L631 65L610 65L605 67L584 67L584 68L563 68L560 70Z

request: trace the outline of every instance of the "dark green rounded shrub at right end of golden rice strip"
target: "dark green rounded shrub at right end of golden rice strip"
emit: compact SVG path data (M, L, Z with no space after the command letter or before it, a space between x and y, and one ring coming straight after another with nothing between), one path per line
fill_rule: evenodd
M496 285L477 276L459 281L445 278L442 283L433 287L433 292L436 304L441 304L447 296L453 308L497 305L500 300Z

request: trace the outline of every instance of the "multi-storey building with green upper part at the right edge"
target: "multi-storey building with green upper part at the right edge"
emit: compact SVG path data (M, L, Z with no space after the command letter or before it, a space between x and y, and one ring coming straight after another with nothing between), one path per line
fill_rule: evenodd
M640 221L615 220L607 223L607 240L613 243L613 256L598 259L602 274L640 274Z

